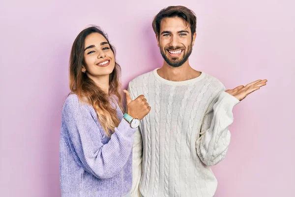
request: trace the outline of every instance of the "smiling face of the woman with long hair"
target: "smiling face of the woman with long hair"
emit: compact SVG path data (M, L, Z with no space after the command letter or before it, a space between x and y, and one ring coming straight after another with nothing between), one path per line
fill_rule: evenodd
M115 56L107 39L100 33L91 33L85 39L82 72L89 78L109 75L115 67ZM91 77L92 76L92 77Z

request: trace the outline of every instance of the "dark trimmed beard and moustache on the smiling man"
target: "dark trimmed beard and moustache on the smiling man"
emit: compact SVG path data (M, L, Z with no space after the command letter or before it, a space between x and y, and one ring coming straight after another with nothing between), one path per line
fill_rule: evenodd
M186 50L183 51L184 54L182 55L182 58L180 60L177 60L179 57L171 57L171 58L168 58L166 56L166 54L165 54L165 51L166 50L177 50L177 49L181 49L181 48L177 46L175 48L168 47L167 49L164 49L163 50L162 47L160 47L161 55L162 55L162 57L164 58L164 60L167 62L167 64L169 66L179 67L179 66L183 65L187 61L187 59L190 56L190 54L192 53L193 47L192 47L192 44L188 45L187 51ZM167 53L169 53L169 52L167 51Z

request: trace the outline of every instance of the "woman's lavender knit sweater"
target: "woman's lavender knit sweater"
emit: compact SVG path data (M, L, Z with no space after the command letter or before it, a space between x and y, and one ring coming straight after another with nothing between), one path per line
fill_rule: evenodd
M121 120L111 138L104 135L94 108L69 95L61 116L62 197L121 197L132 186L132 129Z

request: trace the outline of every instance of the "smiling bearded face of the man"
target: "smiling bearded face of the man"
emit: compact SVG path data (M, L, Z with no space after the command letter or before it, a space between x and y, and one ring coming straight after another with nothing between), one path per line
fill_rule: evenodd
M192 53L196 33L192 39L190 26L182 18L167 17L162 19L160 33L156 37L166 63L178 67L183 65Z

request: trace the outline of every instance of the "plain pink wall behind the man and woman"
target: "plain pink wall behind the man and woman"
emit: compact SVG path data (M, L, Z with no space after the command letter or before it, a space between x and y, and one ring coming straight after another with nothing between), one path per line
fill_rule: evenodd
M295 193L295 3L292 0L58 0L0 3L0 196L59 197L60 113L77 34L101 26L118 50L122 83L162 65L151 21L181 3L198 17L190 65L227 88L267 87L234 109L216 197Z

